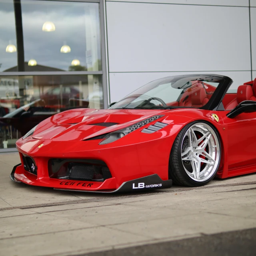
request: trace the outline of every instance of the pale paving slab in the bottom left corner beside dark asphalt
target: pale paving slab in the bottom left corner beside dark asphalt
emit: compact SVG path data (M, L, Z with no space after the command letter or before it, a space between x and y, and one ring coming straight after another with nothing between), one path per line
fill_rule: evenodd
M105 227L70 230L52 234L0 240L1 255L71 255L89 252L94 248L113 248L134 241L147 241L148 238Z

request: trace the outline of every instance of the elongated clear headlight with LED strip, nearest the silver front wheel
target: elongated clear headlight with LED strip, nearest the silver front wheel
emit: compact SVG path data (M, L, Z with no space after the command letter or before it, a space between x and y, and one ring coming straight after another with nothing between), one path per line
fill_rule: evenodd
M102 140L101 142L99 143L99 145L104 145L104 144L108 144L108 143L111 143L111 142L114 142L122 137L124 137L125 135L129 134L130 132L133 132L134 130L137 130L138 128L150 123L150 122L153 122L154 120L162 117L164 115L159 115L159 116L152 116L150 118L147 118L145 120L142 120L136 124L132 124L126 128L123 128L123 129L120 129L120 130L117 130L117 131L114 131L114 132L110 132L109 134L107 134Z

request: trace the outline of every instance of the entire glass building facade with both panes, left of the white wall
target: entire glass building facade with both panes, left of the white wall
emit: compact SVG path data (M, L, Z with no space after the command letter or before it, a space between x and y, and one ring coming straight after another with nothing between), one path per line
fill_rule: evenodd
M71 108L104 108L101 0L0 1L0 149Z

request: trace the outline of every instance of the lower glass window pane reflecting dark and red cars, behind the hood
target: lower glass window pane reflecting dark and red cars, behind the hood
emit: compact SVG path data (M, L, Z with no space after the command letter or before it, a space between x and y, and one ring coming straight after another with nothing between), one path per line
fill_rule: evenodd
M72 108L103 108L101 75L0 76L0 148Z

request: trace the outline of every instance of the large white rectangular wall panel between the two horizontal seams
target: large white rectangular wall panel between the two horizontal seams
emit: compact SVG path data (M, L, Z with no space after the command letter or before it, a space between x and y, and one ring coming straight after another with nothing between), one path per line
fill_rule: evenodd
M250 70L246 7L106 6L110 72Z

